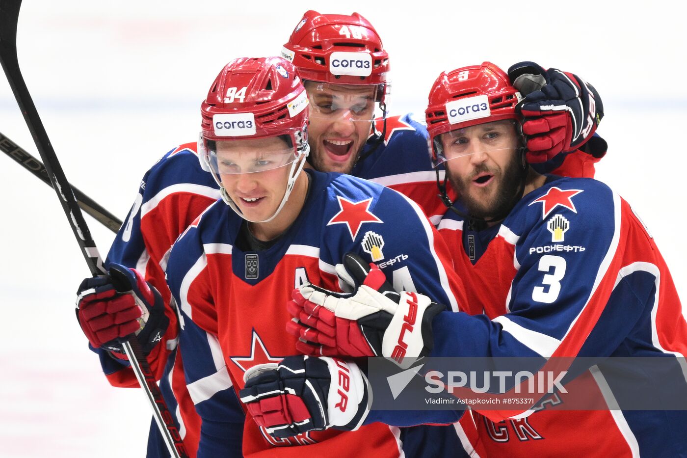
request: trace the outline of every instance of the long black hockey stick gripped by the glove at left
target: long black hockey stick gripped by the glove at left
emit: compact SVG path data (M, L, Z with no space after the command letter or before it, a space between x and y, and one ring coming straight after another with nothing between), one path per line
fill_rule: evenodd
M21 109L29 131L34 138L34 142L36 142L36 147L45 164L47 175L58 195L65 215L67 215L69 225L79 243L89 270L91 270L93 276L98 276L105 273L98 248L95 247L95 242L91 238L91 232L76 203L74 193L69 188L69 182L67 182L60 162L52 149L52 144L50 144L50 140L47 137L43 122L41 122L41 118L38 116L38 111L36 111L34 102L19 70L19 61L17 61L16 56L16 24L19 20L20 7L21 0L0 1L0 62L5 70L10 87L12 87L16 102L19 104L19 109ZM142 354L141 345L137 339L132 338L125 342L123 347L126 356L128 356L131 362L131 368L136 374L136 378L144 393L146 393L150 406L153 408L153 417L155 417L157 426L160 428L170 454L175 458L188 458L188 453L181 441L179 430L174 425L172 415L164 402L159 386L155 382L155 376L150 371L148 361Z

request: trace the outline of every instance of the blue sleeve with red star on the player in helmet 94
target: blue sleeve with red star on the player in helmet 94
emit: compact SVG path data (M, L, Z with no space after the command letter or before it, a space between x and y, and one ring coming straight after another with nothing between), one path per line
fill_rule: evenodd
M376 263L397 291L419 292L449 309L458 309L462 283L453 272L446 244L418 204L390 188L345 175L333 184L337 186L324 209L327 229L323 231L322 260L336 265L346 252L356 252ZM331 223L335 215L343 213L344 204L355 206L364 221L359 225ZM375 243L376 248L370 249Z

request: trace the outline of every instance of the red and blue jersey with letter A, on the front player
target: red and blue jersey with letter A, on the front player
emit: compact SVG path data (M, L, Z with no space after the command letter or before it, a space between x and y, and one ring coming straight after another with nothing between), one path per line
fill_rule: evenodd
M230 411L232 405L225 399L216 400L215 396L242 388L243 373L249 367L297 354L296 339L285 329L290 318L285 304L291 291L304 281L338 290L334 266L346 252L379 263L394 286L425 292L452 309L457 309L456 297L463 297L462 283L447 263L446 246L414 202L394 190L348 175L308 174L311 187L304 208L267 250L245 251L247 248L237 246L243 220L223 201L207 208L172 248L168 284L179 304L183 327L193 321L215 336L219 347L215 360L203 360L195 347L185 342L186 332L181 332L179 348L189 384L211 386L205 390L212 393L204 401L207 411L199 410L203 430L205 415L212 424L217 418L239 415ZM368 240L376 241L376 250L365 243ZM188 355L184 353L187 350ZM218 390L213 380L222 377L218 373L228 373L232 386ZM443 447L443 452L462 450L453 426L450 431L438 426L423 428L429 428L430 434L442 431L440 440L453 444ZM422 453L416 443L423 435L409 431L402 437L399 428L376 423L354 432L314 431L277 441L248 417L243 453L296 457L304 450L293 446L306 444L307 452L316 455L398 457L405 447ZM205 435L201 433L201 437Z

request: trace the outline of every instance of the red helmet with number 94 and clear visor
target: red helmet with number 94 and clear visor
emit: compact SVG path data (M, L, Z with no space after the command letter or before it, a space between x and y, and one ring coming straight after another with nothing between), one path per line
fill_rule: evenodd
M223 186L224 175L258 173L289 166L282 209L308 155L308 98L293 64L280 57L237 58L215 78L201 104L198 153L201 166L212 173L222 199L248 219ZM260 152L250 163L239 164L218 154L218 142L277 138L277 146ZM223 143L224 144L224 143ZM249 219L249 221L252 221Z

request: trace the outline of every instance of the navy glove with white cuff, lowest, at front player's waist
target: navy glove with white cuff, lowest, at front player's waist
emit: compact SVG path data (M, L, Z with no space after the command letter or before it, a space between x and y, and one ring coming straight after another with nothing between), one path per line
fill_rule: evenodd
M368 381L357 364L336 358L289 356L258 364L239 393L256 424L273 437L311 430L355 430L369 412Z

